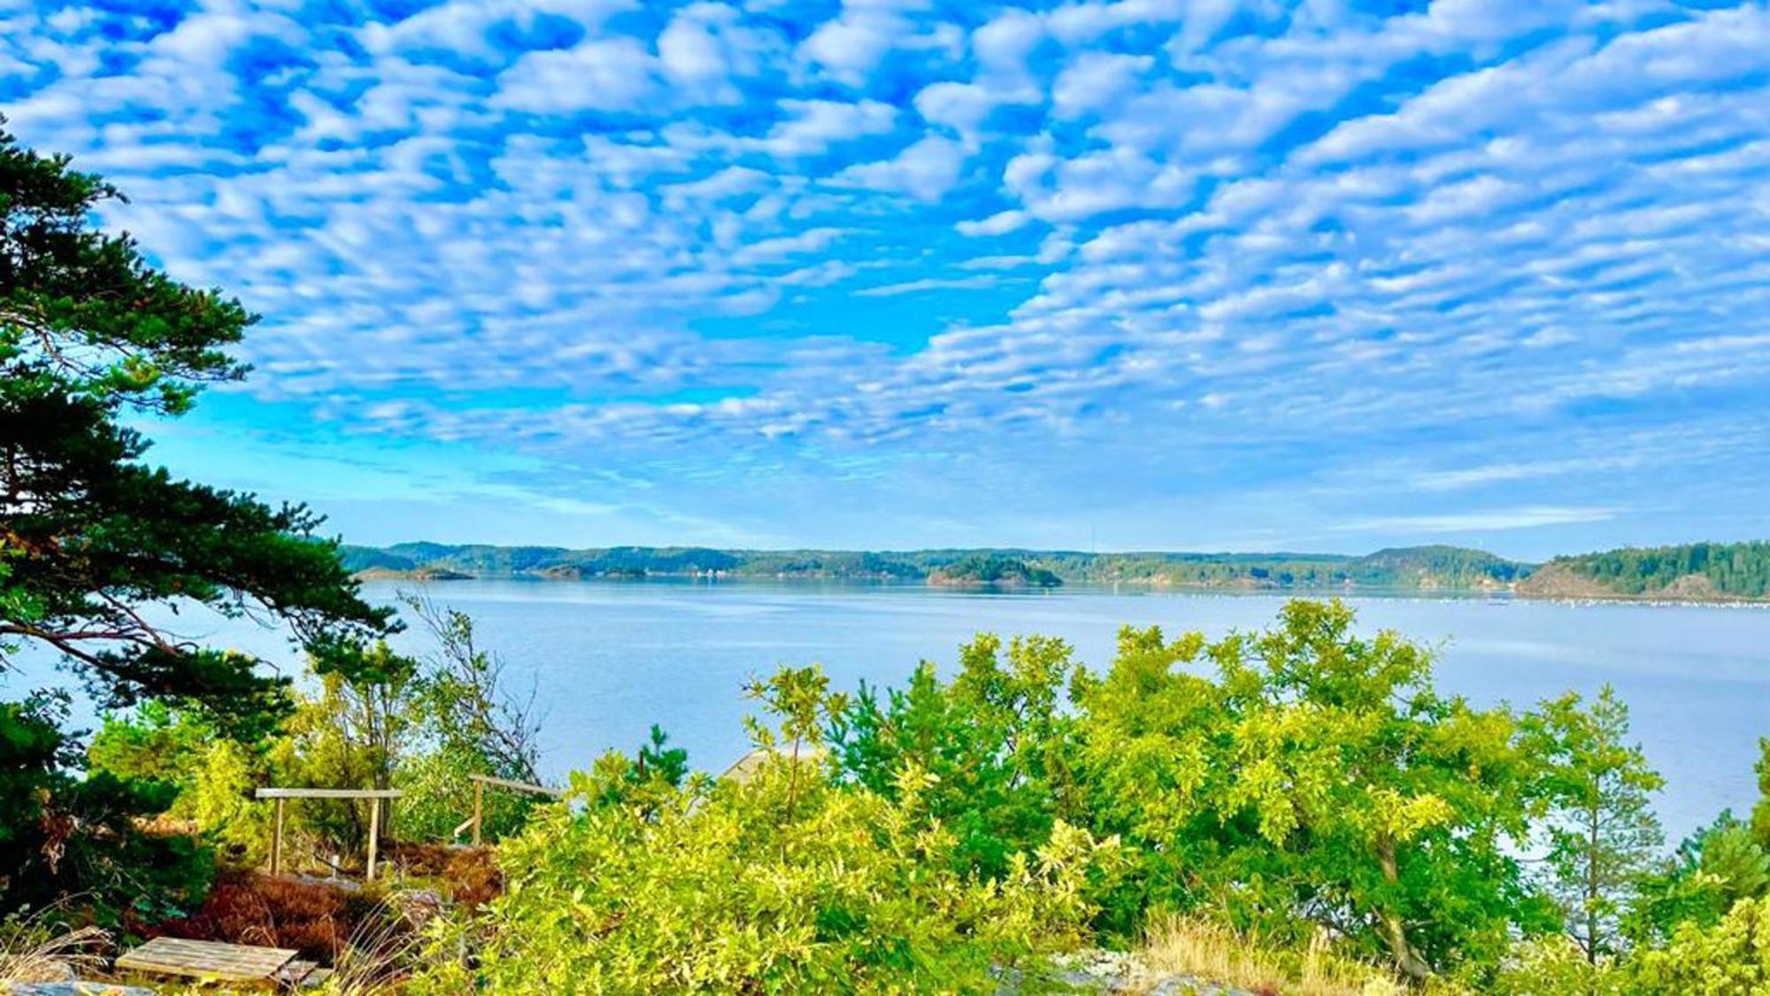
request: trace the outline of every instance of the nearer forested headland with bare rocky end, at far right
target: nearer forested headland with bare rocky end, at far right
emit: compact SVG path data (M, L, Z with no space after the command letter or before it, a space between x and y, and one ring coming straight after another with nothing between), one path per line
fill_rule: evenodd
M1519 585L1542 599L1770 599L1770 542L1692 542L1556 556Z

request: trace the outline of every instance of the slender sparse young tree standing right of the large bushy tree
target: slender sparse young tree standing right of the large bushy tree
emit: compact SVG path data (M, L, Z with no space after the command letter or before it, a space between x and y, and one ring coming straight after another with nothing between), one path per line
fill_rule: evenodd
M1597 962L1620 950L1620 914L1666 842L1651 798L1664 778L1628 741L1628 705L1611 686L1589 707L1575 693L1543 702L1524 718L1524 743L1547 771L1547 884Z

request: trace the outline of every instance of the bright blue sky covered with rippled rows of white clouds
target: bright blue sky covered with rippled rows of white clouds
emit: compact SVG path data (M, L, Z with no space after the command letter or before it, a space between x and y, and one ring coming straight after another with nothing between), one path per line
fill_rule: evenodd
M350 541L1770 535L1765 4L0 4Z

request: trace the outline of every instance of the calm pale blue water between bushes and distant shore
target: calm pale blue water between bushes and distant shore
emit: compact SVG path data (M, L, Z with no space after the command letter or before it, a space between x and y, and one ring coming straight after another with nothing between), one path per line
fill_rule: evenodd
M370 583L391 603L398 583ZM508 673L533 677L550 774L632 750L660 723L696 767L745 750L740 686L779 663L821 663L839 688L901 684L917 661L950 670L988 629L1069 640L1103 666L1122 624L1221 634L1267 624L1283 599L1066 588L972 594L912 587L765 583L446 581L428 594L474 617ZM1676 840L1722 806L1756 798L1758 737L1770 735L1770 610L1549 604L1487 599L1351 599L1365 629L1441 647L1439 686L1478 702L1531 704L1611 682L1667 778L1660 813ZM228 624L216 636L280 650ZM402 638L421 649L414 634ZM287 658L287 652L280 654Z

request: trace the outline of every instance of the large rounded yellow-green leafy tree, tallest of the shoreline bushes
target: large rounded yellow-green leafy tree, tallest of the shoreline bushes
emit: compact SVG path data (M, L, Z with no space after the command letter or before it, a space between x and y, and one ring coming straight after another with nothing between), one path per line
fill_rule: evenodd
M1412 977L1492 964L1549 923L1513 858L1535 767L1508 712L1437 695L1425 650L1351 624L1294 601L1216 643L1120 634L1078 682L1094 826L1143 861L1138 904L1278 938L1324 923Z

